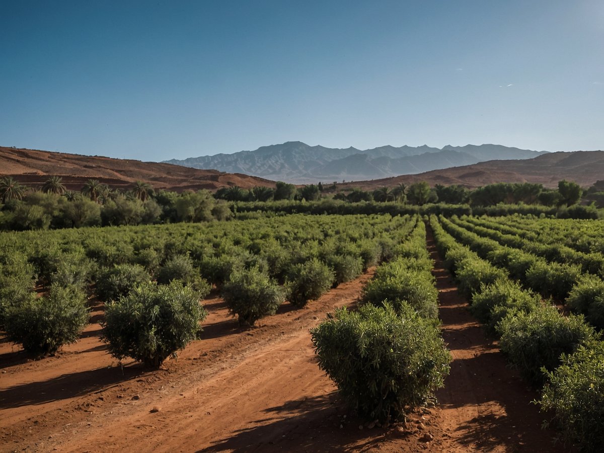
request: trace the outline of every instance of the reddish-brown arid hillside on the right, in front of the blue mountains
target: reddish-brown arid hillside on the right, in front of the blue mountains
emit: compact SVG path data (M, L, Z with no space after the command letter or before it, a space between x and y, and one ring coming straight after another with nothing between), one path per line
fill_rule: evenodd
M430 185L461 184L468 188L495 182L533 182L545 187L557 187L558 181L567 179L582 186L593 185L604 179L604 151L557 152L538 156L534 159L487 161L463 167L402 175L394 178L373 179L371 181L345 182L339 187L393 187L397 184L413 184L427 181Z

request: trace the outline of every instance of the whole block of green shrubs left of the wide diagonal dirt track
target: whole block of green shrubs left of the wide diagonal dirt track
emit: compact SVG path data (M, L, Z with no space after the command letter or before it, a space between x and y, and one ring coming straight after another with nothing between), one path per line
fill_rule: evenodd
M262 316L274 313L286 299L301 307L339 283L358 277L368 266L396 252L399 239L395 236L402 232L404 239L417 224L416 218L391 219L390 216L361 219L360 225L347 223L341 217L314 217L306 222L308 219L298 219L301 220L298 224L292 223L291 219L283 219L281 225L274 225L273 230L261 228L263 236L248 241L246 249L239 248L239 256L233 254L237 247L234 242L243 238L234 237L226 241L223 231L216 227L213 236L195 236L210 243L221 239L215 243L217 248L213 255L204 256L191 250L186 254L176 254L182 249L165 240L162 259L159 251L147 247L138 248L131 254L120 254L123 252L121 238L112 234L104 236L105 230L89 230L97 234L92 238L86 237L88 241L83 244L57 240L49 242L47 248L42 248L41 241L34 246L28 244L29 248L21 247L22 236L29 239L27 233L21 233L21 236L13 234L13 239L18 240L1 245L7 252L0 255L0 327L7 332L8 338L23 344L28 352L37 356L53 355L62 344L75 341L88 323L88 292L88 297L95 296L106 302L103 335L111 344L110 352L118 359L130 356L156 366L167 356L175 354L172 347L160 345L159 336L174 324L164 312L171 310L174 301L183 300L183 291L188 291L185 297L187 307L183 308L180 302L177 304L176 308L185 310L184 314L178 315L181 316L179 319L190 318L195 306L192 301L199 302L210 292L211 283L215 283L222 290L233 315L239 316L240 324L252 326ZM252 231L253 226L265 227L263 222L236 223L242 223ZM328 228L321 231L325 224L335 228L342 240L334 240L328 234L332 233ZM304 230L311 225L312 231ZM279 226L290 228L288 236L292 239L289 249L281 248L275 240ZM400 230L392 230L393 226L399 226ZM165 233L166 229L162 229ZM377 236L372 237L372 230L377 231ZM203 231L207 233L208 228ZM47 234L54 234L56 238L57 233ZM71 235L65 234L65 237L71 238ZM309 237L312 238L310 242L304 243ZM358 237L358 242L350 242L354 237ZM161 235L156 235L156 238L161 238ZM315 238L323 239L323 242ZM157 240L161 243L161 239ZM225 242L227 246L222 249ZM271 246L272 251L281 248L279 262L269 259L271 255L266 253L265 247ZM285 255L286 251L289 256ZM110 264L110 257L117 263ZM36 284L43 285L39 287L44 294L40 298L33 291ZM112 313L117 314L114 316ZM133 320L126 313L143 318ZM200 312L196 318L199 321L201 317ZM162 326L155 321L163 323ZM138 330L133 329L135 325ZM120 332L117 337L116 332ZM186 332L183 338L190 338L190 335L191 332ZM170 341L169 344L182 344L185 339ZM118 345L113 345L115 342ZM133 348L143 352L134 353ZM126 353L128 350L133 353Z

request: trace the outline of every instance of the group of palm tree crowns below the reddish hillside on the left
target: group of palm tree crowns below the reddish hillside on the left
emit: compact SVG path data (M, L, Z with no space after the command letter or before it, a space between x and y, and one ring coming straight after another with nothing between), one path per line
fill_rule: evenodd
M0 199L2 203L12 200L21 200L25 193L31 188L16 181L12 176L0 178ZM80 192L67 190L60 176L51 176L42 185L42 191L45 193L56 193L65 196L69 201L74 201L80 196L86 196L94 202L105 202L117 198L122 193L101 183L98 179L88 179ZM140 201L146 201L153 194L153 187L147 182L137 181L131 189L131 193Z

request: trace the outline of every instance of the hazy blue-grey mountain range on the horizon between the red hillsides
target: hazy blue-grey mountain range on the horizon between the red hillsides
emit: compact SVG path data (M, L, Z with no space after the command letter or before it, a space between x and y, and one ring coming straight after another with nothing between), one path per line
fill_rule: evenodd
M471 165L493 159L531 159L537 152L502 145L380 146L359 150L309 146L300 141L262 146L255 151L200 156L169 164L228 173L245 173L274 181L297 183L331 182L413 175L430 170Z

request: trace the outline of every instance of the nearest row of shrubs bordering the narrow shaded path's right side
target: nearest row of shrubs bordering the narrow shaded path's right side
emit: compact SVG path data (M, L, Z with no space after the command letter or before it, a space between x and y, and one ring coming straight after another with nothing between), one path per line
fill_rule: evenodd
M441 219L442 220L442 219ZM500 340L501 351L541 390L561 437L585 451L604 445L604 348L582 315L562 316L430 219L445 263L471 303L471 312Z

